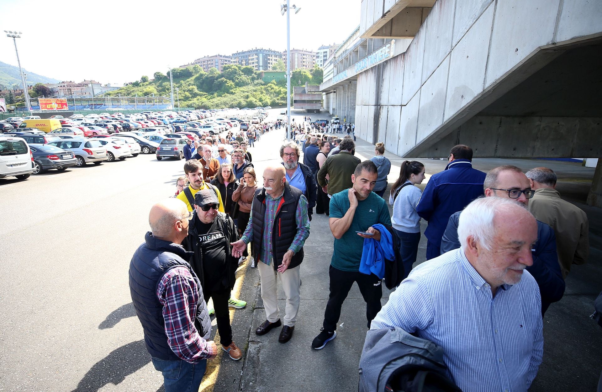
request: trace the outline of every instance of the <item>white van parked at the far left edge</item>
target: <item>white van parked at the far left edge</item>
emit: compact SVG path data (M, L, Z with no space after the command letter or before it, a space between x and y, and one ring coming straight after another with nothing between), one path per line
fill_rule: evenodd
M0 136L0 178L28 178L34 172L29 145L20 137Z

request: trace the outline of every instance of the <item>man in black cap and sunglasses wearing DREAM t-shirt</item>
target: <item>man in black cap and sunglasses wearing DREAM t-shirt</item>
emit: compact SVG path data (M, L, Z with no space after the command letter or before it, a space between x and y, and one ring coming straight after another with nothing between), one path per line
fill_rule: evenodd
M238 241L238 232L232 218L217 211L218 208L219 200L213 190L201 189L194 195L193 216L182 246L193 252L190 265L199 277L205 301L213 298L222 349L238 361L243 354L232 341L228 310L238 267L230 243Z

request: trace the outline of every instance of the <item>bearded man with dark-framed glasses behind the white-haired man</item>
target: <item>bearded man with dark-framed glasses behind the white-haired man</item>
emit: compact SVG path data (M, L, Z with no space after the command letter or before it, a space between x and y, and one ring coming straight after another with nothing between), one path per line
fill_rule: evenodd
M485 197L509 199L527 208L529 199L535 191L531 189L529 179L516 166L504 165L491 169L485 177ZM447 222L447 228L441 239L441 253L460 247L458 240L458 222L461 211L453 214ZM527 271L533 275L541 292L541 315L551 303L560 301L565 291L554 230L543 222L537 222L537 242L533 246L533 265Z

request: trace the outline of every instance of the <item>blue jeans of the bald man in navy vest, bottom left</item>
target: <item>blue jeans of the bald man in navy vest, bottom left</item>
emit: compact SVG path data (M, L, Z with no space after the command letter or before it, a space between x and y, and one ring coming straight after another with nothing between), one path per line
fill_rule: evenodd
M198 392L205 375L207 360L193 364L187 361L164 361L151 357L152 364L163 373L165 392Z

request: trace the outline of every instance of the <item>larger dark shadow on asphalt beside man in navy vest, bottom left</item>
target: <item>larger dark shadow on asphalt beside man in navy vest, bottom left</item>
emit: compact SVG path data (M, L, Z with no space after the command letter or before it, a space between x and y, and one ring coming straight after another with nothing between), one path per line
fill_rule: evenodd
M98 391L107 384L117 385L151 361L144 339L114 349L92 366L72 392ZM163 387L159 391L163 390Z

